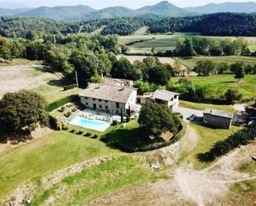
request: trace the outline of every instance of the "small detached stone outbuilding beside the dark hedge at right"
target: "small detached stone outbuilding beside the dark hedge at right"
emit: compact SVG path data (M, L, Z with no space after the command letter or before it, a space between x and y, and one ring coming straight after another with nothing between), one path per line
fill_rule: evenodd
M229 129L231 127L233 113L225 113L219 110L207 108L204 113L204 122L210 127Z

